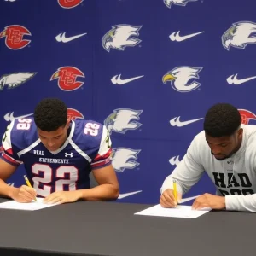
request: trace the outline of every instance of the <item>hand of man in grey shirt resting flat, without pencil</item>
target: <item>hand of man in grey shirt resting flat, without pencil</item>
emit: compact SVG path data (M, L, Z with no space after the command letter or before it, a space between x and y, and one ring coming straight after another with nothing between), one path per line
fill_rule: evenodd
M211 208L215 210L221 210L225 208L225 198L224 196L204 194L198 196L193 205L192 209L201 210L201 208Z

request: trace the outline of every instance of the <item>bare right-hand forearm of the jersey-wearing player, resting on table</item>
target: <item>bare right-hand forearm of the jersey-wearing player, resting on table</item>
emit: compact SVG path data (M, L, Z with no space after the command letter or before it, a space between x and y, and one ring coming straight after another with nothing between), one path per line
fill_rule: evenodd
M119 188L112 184L102 184L92 189L80 189L79 199L86 201L108 201L119 197Z

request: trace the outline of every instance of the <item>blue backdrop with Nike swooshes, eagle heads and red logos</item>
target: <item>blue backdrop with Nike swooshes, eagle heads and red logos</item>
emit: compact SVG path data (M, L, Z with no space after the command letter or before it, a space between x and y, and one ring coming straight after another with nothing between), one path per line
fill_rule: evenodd
M165 177L230 102L256 123L254 0L1 0L0 135L59 97L107 125L119 201L158 203ZM24 183L23 166L9 183ZM204 176L188 195L215 193ZM131 193L131 194L130 194Z

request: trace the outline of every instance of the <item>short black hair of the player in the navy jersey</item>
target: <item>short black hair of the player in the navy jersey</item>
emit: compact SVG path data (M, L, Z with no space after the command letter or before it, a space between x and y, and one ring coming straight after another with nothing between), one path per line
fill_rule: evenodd
M46 98L38 103L34 120L42 131L55 131L67 124L67 106L57 98Z

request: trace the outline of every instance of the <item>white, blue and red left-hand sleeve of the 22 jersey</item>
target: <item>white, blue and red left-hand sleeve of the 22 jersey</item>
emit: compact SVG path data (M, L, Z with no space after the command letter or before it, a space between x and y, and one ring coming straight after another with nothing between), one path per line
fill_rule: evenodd
M13 120L8 126L3 134L2 138L2 149L3 152L1 154L1 159L6 161L12 166L20 166L22 161L20 161L20 157L17 155L17 148L15 144L12 142L13 140L13 128L15 125L15 120Z

